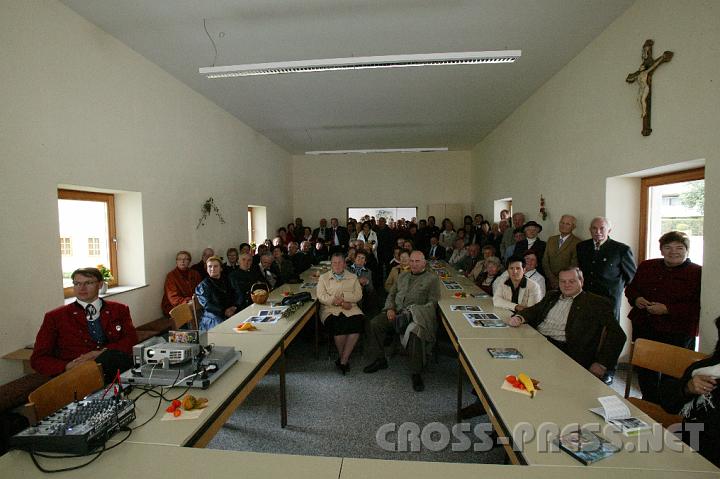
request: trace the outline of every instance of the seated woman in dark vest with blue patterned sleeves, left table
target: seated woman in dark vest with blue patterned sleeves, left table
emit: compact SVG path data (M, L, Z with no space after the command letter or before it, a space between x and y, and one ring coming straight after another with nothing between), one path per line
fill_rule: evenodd
M200 329L207 331L214 328L237 311L237 295L227 278L222 276L222 260L219 256L211 256L207 262L208 277L195 288L203 314L200 318Z

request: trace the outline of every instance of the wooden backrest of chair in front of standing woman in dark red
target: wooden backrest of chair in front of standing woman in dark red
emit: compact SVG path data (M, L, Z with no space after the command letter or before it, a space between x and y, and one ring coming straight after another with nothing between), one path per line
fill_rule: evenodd
M698 353L679 346L659 343L649 339L637 339L633 344L630 356L631 369L625 386L625 397L630 395L632 366L650 369L679 379L683 376L688 366L706 357L707 354Z

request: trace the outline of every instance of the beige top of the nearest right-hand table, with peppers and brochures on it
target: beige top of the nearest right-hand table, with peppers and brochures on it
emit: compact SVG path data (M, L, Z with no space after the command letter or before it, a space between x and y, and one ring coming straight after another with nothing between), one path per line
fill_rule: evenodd
M513 431L522 424L531 425L536 431L543 423L556 424L560 429L570 424L600 424L604 420L588 411L598 407L598 397L617 393L593 376L589 371L572 361L548 341L518 341L515 339L460 339L460 347L479 378L483 394L492 403L495 416L505 428ZM492 359L489 347L515 347L523 359ZM520 372L540 381L542 388L534 398L502 390L505 376ZM648 423L653 423L646 414L629 404L631 413ZM659 432L660 439L670 441L670 433ZM601 433L601 435L604 435ZM663 436L664 435L664 436ZM622 438L626 447L636 447L642 436ZM649 436L645 436L647 438ZM662 442L662 441L661 441ZM677 441L674 441L677 442ZM627 446L632 443L634 446ZM569 454L538 451L538 441L533 439L524 446L522 456L531 465L577 465ZM589 467L637 468L645 470L676 471L717 471L717 469L689 447L682 445L682 452L664 447L661 452L630 452L623 450L612 457L603 459Z

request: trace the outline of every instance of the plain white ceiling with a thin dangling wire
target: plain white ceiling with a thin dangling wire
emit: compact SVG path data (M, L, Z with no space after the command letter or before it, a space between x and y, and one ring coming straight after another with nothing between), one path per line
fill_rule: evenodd
M61 0L288 152L475 146L634 0ZM217 45L217 60L207 29ZM203 66L522 50L514 64L208 80Z

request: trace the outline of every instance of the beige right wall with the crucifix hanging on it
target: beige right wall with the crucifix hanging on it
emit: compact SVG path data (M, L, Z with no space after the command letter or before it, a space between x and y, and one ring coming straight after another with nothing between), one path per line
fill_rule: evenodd
M704 160L706 165L705 266L702 348L715 344L711 321L720 315L720 3L639 0L473 150L473 202L483 209L511 196L516 211L537 217L544 195L550 213L546 235L563 213L579 218L587 237L595 215L618 215L632 185L608 178L665 165ZM672 62L654 78L652 127L640 135L637 88L625 77L637 69L641 47L655 40L654 55L672 50ZM509 176L514 181L506 181ZM606 184L611 185L608 190ZM637 215L628 203L613 236L637 250ZM620 218L619 218L620 219ZM634 230L633 230L634 228Z

